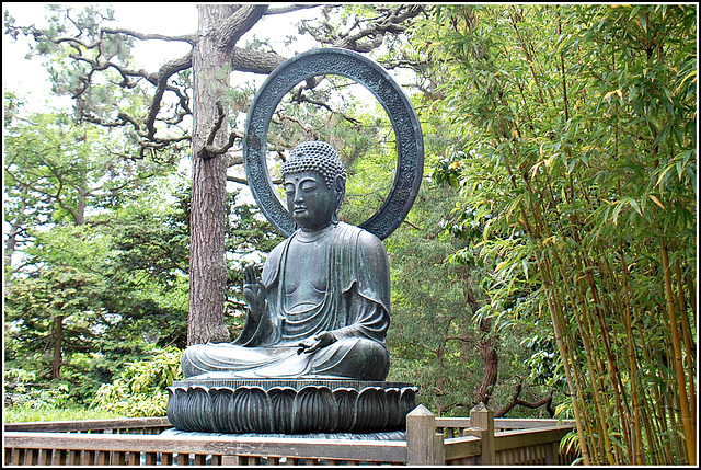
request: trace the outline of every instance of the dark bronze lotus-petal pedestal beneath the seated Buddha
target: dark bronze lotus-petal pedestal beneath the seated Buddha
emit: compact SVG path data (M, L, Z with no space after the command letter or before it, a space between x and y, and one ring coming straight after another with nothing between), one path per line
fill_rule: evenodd
M229 379L215 374L168 387L181 431L223 434L384 433L406 428L411 383L348 379Z

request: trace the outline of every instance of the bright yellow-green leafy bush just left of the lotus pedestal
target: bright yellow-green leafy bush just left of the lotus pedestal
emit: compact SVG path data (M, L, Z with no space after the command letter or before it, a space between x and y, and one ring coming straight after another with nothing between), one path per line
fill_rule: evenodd
M165 388L182 378L181 355L181 349L171 346L152 359L130 363L119 378L100 387L94 408L128 417L164 416Z

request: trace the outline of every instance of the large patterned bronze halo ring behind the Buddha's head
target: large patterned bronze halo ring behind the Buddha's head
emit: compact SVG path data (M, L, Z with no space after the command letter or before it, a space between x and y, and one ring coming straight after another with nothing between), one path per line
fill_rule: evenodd
M397 172L389 196L360 228L381 240L404 220L418 194L424 172L424 139L416 111L402 88L377 62L348 49L323 48L299 54L278 66L255 94L243 135L243 163L253 198L276 230L289 237L295 222L273 188L265 158L275 108L298 83L337 74L367 88L380 102L397 137Z

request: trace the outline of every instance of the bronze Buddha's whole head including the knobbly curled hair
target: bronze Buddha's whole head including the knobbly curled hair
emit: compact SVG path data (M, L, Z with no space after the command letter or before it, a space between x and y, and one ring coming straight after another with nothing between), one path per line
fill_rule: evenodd
M298 145L280 173L287 209L298 227L320 230L338 221L346 169L332 146L321 141Z

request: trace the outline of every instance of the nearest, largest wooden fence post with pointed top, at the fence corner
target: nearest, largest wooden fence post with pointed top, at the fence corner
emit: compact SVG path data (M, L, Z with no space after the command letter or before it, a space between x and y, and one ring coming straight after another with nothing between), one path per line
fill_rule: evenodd
M436 434L436 416L420 404L406 415L406 465L444 465L443 435Z

